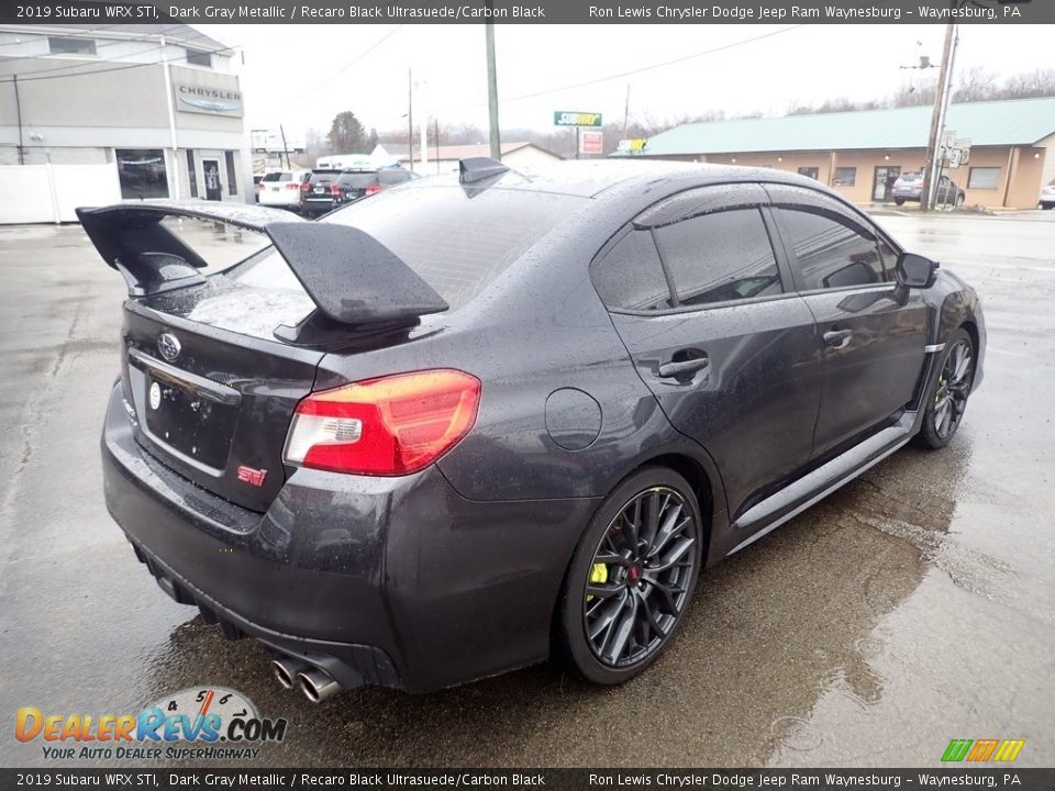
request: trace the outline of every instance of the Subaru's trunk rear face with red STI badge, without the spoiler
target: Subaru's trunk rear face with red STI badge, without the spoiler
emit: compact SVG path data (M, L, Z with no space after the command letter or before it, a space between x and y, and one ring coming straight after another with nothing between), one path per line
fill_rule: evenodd
M236 313L229 317L236 323ZM140 444L202 488L265 511L286 480L286 433L322 353L131 300L122 335L124 392Z

